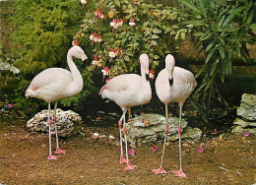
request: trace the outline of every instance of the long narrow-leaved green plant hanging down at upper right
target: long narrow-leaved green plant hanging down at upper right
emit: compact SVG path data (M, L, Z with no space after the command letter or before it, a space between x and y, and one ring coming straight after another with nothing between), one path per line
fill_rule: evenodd
M202 97L198 104L207 120L214 116L212 101L227 102L224 99L224 77L232 73L233 58L249 62L249 50L246 43L253 42L252 20L255 3L252 0L181 0L184 22L192 30L192 41L201 47L205 55L205 64L197 74L204 74L197 95ZM255 41L255 40L254 40Z

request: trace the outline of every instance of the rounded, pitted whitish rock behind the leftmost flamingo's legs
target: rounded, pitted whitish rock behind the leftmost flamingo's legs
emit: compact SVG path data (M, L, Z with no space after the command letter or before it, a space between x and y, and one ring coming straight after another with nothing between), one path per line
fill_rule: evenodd
M50 114L52 118L53 110L50 111ZM72 110L63 111L57 108L56 117L58 136L69 137L78 133L77 127L82 123L82 117L78 113ZM32 132L48 132L47 120L48 110L41 110L27 122L27 128ZM53 121L51 124L51 135L55 135L55 124Z

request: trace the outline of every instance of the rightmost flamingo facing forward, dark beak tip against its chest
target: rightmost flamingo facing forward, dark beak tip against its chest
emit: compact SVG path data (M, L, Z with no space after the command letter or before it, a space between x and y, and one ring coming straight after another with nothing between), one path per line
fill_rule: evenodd
M186 174L181 168L181 111L182 105L193 92L197 83L194 78L194 75L183 68L174 66L175 60L171 54L166 55L165 57L165 69L160 71L158 78L156 80L156 91L160 98L160 101L165 104L165 131L164 131L164 141L162 147L160 168L152 169L153 173L167 173L162 167L162 159L164 153L164 146L166 142L166 136L168 132L168 104L170 102L178 102L179 104L179 124L178 124L178 139L179 139L179 164L180 168L177 171L172 171L174 176L186 177Z

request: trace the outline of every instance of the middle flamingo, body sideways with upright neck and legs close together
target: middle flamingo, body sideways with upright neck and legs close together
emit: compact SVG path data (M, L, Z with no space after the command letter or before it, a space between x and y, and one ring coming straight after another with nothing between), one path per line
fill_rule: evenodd
M128 159L127 150L127 130L125 127L125 114L127 109L132 106L138 106L150 102L152 98L152 90L150 82L146 80L146 74L149 74L149 56L147 54L141 54L141 76L136 74L124 74L119 75L111 79L106 85L104 85L98 94L101 94L102 98L107 97L114 101L123 111L123 114L118 121L119 133L120 133L120 163L126 163L125 170L132 170L136 168L136 165L132 165ZM123 156L122 148L122 121L123 131L126 148L126 159Z

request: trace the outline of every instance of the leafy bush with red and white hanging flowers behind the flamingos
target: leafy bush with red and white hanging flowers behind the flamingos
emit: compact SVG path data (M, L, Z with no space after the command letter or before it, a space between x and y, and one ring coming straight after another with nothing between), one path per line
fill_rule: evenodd
M104 67L103 75L110 78L137 73L143 52L156 69L167 53L179 52L178 43L188 33L186 28L179 29L182 16L162 4L104 0L89 2L84 9L84 24L75 39L88 45L92 58L96 57L95 66Z

